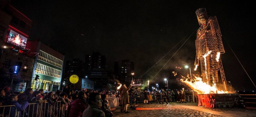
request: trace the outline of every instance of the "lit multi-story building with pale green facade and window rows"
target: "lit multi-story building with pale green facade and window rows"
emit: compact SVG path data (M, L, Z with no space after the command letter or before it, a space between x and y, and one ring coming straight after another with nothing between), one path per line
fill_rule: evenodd
M32 88L45 91L60 89L64 56L40 41L28 41L27 46L32 50L29 55L35 58Z

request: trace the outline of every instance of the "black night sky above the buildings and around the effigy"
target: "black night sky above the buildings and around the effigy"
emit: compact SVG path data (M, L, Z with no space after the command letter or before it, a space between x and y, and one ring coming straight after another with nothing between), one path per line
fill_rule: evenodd
M80 58L93 51L106 56L107 70L114 62L130 59L137 77L145 73L182 38L199 26L195 11L206 8L217 16L223 38L231 46L247 73L255 79L255 4L245 1L24 1L11 0L11 5L33 21L30 40L40 39L63 53L66 60ZM181 50L152 81L163 77L175 82L171 72L175 66L188 64L194 68L194 33ZM221 55L227 81L236 90L254 89L242 66L223 40ZM154 76L181 46L178 45L143 79ZM188 70L181 70L182 74ZM178 71L178 72L181 72ZM192 74L194 71L192 70Z

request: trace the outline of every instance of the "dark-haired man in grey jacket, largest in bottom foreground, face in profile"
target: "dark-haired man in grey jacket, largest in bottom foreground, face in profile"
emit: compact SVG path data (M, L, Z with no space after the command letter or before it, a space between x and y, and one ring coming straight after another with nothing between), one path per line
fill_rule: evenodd
M82 117L105 117L104 112L100 109L102 106L102 100L99 93L90 94L86 98L86 102L89 104L89 106L86 110L84 110Z

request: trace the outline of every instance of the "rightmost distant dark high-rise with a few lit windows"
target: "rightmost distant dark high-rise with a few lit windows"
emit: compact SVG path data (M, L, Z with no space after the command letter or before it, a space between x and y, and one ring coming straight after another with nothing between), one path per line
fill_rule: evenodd
M132 80L131 73L134 71L134 62L130 60L122 60L121 62L115 62L115 74L118 75L119 80L129 82Z

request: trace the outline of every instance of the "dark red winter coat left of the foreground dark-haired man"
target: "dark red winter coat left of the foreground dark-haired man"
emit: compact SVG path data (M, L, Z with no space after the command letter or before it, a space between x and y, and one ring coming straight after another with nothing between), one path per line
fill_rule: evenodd
M76 99L68 106L69 117L81 117L83 111L87 108L84 99Z

